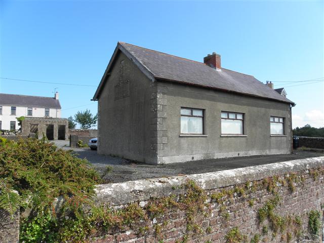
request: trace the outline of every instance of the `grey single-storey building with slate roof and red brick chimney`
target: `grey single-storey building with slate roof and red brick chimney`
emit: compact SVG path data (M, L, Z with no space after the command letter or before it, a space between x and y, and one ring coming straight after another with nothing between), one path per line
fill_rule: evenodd
M294 102L254 76L121 43L93 100L98 153L148 164L288 154Z

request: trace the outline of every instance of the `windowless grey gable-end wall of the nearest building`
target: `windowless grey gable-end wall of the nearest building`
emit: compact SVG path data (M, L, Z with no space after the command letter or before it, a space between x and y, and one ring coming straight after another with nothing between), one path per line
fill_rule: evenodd
M98 153L156 164L155 100L155 84L120 52L98 101Z

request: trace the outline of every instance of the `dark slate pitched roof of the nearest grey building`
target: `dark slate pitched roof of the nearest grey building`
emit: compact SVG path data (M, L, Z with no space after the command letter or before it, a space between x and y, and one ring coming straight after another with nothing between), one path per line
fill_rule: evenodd
M201 62L122 42L118 42L117 44L115 52L95 93L94 100L99 98L106 75L109 73L113 59L118 51L123 52L132 59L149 78L157 81L170 81L200 86L294 104L294 102L278 94L252 75L235 72L223 67L221 70L217 70Z

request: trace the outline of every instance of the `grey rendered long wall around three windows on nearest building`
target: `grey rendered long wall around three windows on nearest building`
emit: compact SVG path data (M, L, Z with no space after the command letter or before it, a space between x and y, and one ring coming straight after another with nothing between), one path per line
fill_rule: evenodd
M290 105L174 83L164 89L166 138L158 164L255 154L291 153ZM205 109L205 137L180 137L180 107ZM221 137L221 111L245 113L246 137ZM270 115L285 117L285 136L270 136Z

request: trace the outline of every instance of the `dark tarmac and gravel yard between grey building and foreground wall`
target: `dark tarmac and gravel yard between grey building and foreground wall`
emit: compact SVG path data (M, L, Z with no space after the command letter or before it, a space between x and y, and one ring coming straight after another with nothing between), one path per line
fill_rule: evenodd
M68 146L68 141L55 141L55 143L63 149L71 149ZM271 164L288 160L324 156L324 153L322 153L322 151L314 152L295 150L293 154L254 155L231 158L202 159L187 161L184 163L153 166L119 157L100 155L97 154L96 150L90 150L90 148L72 148L72 150L77 154L79 158L88 159L100 174L104 173L107 166L111 166L112 171L110 171L103 177L106 183L177 175L199 174Z

